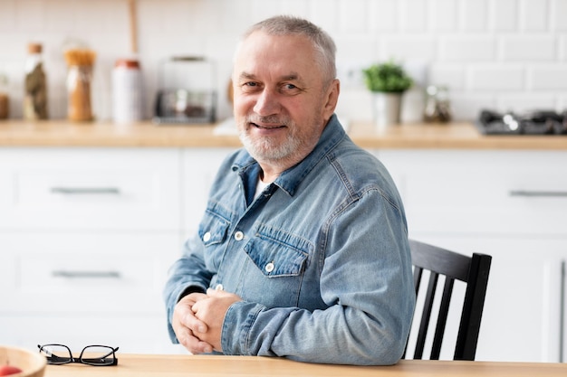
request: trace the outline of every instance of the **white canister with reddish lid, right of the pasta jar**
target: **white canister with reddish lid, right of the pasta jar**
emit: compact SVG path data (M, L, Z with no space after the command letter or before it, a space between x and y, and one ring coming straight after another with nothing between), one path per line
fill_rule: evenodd
M116 123L131 123L143 118L142 79L139 61L119 59L112 71L112 118Z

